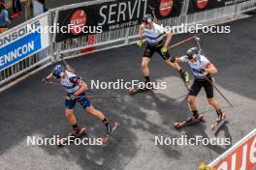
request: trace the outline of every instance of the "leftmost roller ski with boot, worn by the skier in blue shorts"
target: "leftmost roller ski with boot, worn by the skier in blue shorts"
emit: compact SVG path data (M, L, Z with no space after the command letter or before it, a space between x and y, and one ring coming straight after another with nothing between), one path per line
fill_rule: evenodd
M57 146L62 147L66 146L67 144L72 143L76 138L81 138L82 136L86 135L86 128L82 127L77 130L74 130L69 133L68 137L59 139L57 141Z

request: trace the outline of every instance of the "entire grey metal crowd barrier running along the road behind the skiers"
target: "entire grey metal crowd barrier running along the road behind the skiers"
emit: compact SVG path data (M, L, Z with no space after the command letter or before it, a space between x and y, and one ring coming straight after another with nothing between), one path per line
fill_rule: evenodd
M26 26L27 24L31 24L34 21L40 20L45 17L47 17L48 19L48 26L53 26L53 24L57 23L58 14L60 11L111 1L113 0L96 0L52 9L46 14L41 14L1 34L0 40L5 36L16 32L16 30ZM236 5L230 5L223 8L205 11L203 13L187 14L188 3L189 0L184 0L181 14L179 16L163 19L159 22L163 25L169 26L178 26L181 23L186 23L188 25L194 25L197 23L211 25L212 21L218 22L223 18L236 19L239 18L241 13L256 9L256 0L250 0ZM46 36L48 37L48 47L40 49L33 55L25 57L24 59L12 64L10 67L5 68L4 70L0 70L0 87L10 82L10 80L20 75L23 75L28 71L39 70L50 65L51 62L58 61L58 56L60 54L64 54L64 56L70 58L82 54L84 52L84 48L88 49L90 47L96 46L97 49L94 49L94 51L99 51L121 45L127 45L137 41L139 37L138 33L139 26L132 26L103 32L102 34L97 34L94 36L83 36L78 39L70 39L63 42L54 42L56 35L48 33L48 35Z

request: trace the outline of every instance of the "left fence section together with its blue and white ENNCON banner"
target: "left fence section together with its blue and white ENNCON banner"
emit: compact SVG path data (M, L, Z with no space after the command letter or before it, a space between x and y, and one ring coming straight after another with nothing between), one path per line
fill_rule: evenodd
M0 85L6 85L10 80L24 75L24 73L50 65L52 59L52 55L50 55L51 46L49 45L52 43L50 34L43 35L42 33L39 37L33 33L24 33L27 25L33 23L42 21L46 26L50 22L49 14L41 14L0 35L2 44L0 46L0 54L2 55L0 66L3 66L0 68ZM28 40L29 36L31 36L30 40ZM31 52L24 51L24 49L27 49L27 47L24 48L24 45L27 44L26 39L28 42L34 41L35 49L31 49ZM37 43L40 43L38 48L36 48ZM17 51L21 48L23 49L22 54L17 55Z

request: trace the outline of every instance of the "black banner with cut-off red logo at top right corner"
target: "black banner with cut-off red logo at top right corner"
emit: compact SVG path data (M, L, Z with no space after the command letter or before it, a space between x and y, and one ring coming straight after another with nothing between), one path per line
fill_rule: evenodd
M211 9L238 4L249 0L190 0L188 14L199 13Z

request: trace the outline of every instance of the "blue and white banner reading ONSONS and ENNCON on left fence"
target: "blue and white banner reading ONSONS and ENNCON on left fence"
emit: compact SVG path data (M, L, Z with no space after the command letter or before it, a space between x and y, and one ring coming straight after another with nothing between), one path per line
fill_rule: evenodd
M0 71L48 47L48 33L43 31L47 26L46 16L0 37ZM40 28L41 31L33 28Z

